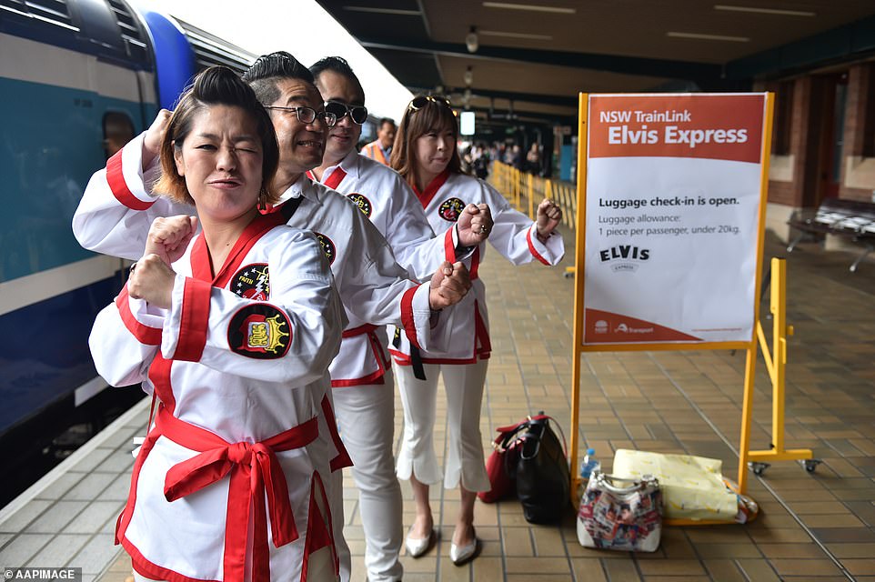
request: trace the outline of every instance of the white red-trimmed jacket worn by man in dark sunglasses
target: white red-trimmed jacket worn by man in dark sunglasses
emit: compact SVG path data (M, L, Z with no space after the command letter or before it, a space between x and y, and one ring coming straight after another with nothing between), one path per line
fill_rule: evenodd
M307 176L316 179L312 173ZM429 279L437 267L454 256L447 251L447 244L458 249L458 231L455 224L440 225L440 234L435 236L423 213L413 189L398 173L353 150L337 166L329 166L322 175L322 184L337 190L352 200L367 216L377 230L386 238L399 265L417 280ZM449 242L448 242L449 241ZM470 256L468 252L459 260ZM455 262L451 260L451 262ZM342 293L342 292L341 292ZM387 346L385 326L359 327L367 330L371 338L374 361L388 365L387 355L382 346ZM345 342L350 331L345 332ZM347 352L341 349L341 355ZM382 369L382 368L381 368ZM382 374L381 374L382 376ZM382 384L379 377L368 376L368 383ZM332 386L353 386L364 384L361 381L345 381L332 376Z

